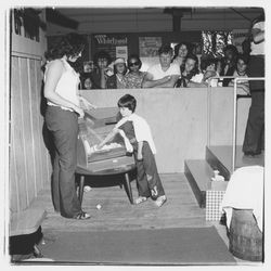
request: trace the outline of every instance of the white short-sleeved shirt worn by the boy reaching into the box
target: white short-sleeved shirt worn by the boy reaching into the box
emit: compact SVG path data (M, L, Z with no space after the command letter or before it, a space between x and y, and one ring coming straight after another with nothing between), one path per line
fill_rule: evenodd
M115 126L115 128L119 128L121 125L124 125L126 121L132 121L133 129L134 129L134 136L138 142L140 141L146 141L153 152L153 154L156 154L156 147L154 144L153 136L151 128L146 120L142 117L140 117L137 114L131 114L128 117L121 118Z

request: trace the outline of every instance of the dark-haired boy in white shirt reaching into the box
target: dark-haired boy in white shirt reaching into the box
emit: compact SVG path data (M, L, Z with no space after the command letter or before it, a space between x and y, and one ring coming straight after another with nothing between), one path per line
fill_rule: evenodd
M134 201L134 204L141 204L152 197L155 199L156 206L160 207L167 198L157 172L154 158L156 150L150 126L144 118L134 113L137 107L134 96L130 94L121 96L118 101L118 107L122 118L98 145L98 150L119 133L125 139L127 151L134 154L139 190L139 197Z

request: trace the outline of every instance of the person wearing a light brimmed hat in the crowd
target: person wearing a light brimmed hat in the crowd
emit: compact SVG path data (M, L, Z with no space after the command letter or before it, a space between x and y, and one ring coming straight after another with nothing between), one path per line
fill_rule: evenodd
M126 89L126 75L127 66L122 57L117 59L114 62L114 75L108 77L106 81L106 89Z

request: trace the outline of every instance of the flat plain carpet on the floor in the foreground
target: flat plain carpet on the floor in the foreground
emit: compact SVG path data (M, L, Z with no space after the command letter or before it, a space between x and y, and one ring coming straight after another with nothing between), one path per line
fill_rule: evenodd
M236 264L215 227L55 232L39 248L44 257L66 263Z

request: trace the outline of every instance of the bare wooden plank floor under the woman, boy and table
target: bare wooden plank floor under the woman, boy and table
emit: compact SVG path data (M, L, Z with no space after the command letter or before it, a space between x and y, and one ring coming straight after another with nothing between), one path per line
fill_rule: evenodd
M62 218L54 212L50 188L39 194L33 207L46 208L42 223L47 231L111 231L181 227L207 227L205 209L201 209L183 173L162 175L167 203L158 208L152 199L131 205L125 189L119 185L92 188L83 194L82 207L92 215L90 220ZM133 198L138 196L136 181L131 182ZM100 204L102 208L96 209Z

